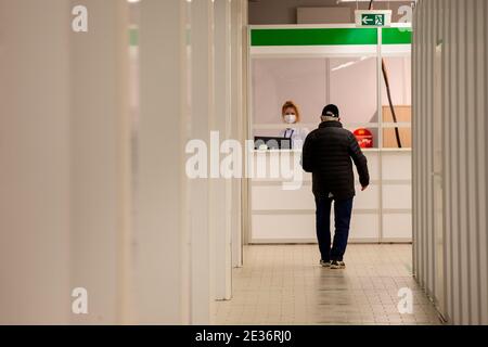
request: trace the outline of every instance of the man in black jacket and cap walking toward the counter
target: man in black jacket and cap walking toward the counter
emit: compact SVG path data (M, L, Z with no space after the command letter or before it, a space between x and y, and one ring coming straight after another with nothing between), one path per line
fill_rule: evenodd
M356 137L343 128L337 106L325 106L321 119L319 129L310 132L305 140L301 166L313 177L320 264L332 269L344 269L346 267L344 254L356 195L351 158L357 167L362 191L370 184L368 160ZM331 249L330 223L333 201L335 235Z

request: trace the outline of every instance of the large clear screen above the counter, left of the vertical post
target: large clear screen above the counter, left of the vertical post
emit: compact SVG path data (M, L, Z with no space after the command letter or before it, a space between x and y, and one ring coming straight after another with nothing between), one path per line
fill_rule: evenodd
M254 136L279 136L288 127L282 118L282 106L293 101L300 112L300 121L294 128L313 130L323 107L333 103L339 107L346 128L368 128L377 138L374 56L254 59L252 83Z

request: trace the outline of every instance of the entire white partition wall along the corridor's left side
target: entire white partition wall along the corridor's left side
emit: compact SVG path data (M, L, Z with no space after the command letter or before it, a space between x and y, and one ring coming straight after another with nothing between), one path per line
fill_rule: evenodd
M185 149L243 140L246 7L0 0L0 323L214 322L242 180Z

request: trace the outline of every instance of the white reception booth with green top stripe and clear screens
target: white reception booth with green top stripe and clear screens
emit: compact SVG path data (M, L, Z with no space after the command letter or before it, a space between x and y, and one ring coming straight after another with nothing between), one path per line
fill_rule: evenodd
M333 103L346 129L373 133L373 146L363 150L371 185L361 192L357 182L350 242L411 242L411 27L252 26L248 78L253 138L278 137L286 128L281 119L285 101L298 105L301 119L295 127L306 131L318 127L323 106ZM271 171L290 166L299 176L300 156L300 150L254 151L249 160L255 168L266 163ZM358 179L356 168L355 174ZM290 175L249 179L249 243L317 241L311 176L303 175L299 187L283 184L292 180ZM332 232L333 226L332 218Z

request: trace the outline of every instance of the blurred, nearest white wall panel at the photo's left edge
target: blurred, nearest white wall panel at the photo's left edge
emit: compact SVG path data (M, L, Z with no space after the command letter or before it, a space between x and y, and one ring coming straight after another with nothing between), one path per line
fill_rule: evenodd
M0 324L66 324L68 4L0 0Z

